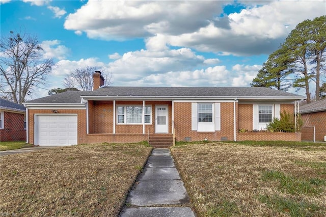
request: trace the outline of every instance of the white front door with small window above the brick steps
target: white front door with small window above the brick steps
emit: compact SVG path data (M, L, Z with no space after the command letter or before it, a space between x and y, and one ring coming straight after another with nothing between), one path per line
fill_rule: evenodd
M169 106L155 105L155 133L169 132Z

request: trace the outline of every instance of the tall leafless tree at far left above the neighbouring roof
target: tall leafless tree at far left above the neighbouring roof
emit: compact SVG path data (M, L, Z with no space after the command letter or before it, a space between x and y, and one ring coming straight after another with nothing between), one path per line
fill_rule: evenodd
M22 104L33 88L45 84L55 64L43 58L38 39L25 33L11 31L9 36L1 37L0 47L0 75L6 85L2 92L9 100Z

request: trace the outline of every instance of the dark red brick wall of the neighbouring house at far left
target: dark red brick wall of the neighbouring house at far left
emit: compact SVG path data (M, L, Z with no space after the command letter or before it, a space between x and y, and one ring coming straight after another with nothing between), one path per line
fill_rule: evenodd
M0 129L0 141L26 141L24 114L4 111L4 129Z

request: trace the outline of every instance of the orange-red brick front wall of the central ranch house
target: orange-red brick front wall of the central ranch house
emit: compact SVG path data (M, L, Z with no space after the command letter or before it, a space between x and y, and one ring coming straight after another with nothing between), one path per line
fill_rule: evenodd
M116 105L142 105L143 101L116 101ZM113 101L89 101L89 134L86 134L86 110L58 110L59 114L77 114L78 118L78 144L101 142L139 142L147 140L148 132L155 133L155 105L169 106L169 133L172 133L172 102L171 101L146 101L146 105L152 105L152 123L145 125L117 124L116 134L113 134ZM233 102L221 102L221 130L214 132L197 132L192 130L192 103L174 103L174 127L177 141L184 141L185 137L191 137L192 141L221 141L222 137L234 140L234 111ZM293 113L293 104L282 104L281 110L289 110ZM29 142L34 142L34 115L53 114L52 110L29 110ZM236 131L240 128L252 129L253 105L236 103ZM257 135L237 134L237 140L260 140L262 134ZM284 135L284 138L283 138ZM270 137L266 135L266 137ZM301 137L301 135L300 135ZM282 134L274 140L292 140ZM265 138L266 139L266 138ZM294 139L293 139L294 140Z

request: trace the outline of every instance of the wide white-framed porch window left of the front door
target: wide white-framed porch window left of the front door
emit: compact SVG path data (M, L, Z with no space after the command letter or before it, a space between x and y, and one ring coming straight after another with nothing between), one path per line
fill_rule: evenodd
M150 124L152 120L152 107L145 106L145 123ZM118 105L117 106L118 124L142 124L143 106L142 105Z

